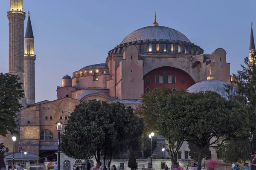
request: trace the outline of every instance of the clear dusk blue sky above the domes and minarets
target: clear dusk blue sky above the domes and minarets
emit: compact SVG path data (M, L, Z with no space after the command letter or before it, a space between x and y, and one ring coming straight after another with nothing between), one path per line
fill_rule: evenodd
M256 0L23 0L35 37L35 98L55 100L61 78L86 65L105 63L108 51L132 31L174 28L211 54L227 51L231 73L248 56ZM0 72L9 70L9 0L0 3ZM27 23L27 14L25 20ZM256 25L255 25L256 28ZM256 29L255 29L256 35Z

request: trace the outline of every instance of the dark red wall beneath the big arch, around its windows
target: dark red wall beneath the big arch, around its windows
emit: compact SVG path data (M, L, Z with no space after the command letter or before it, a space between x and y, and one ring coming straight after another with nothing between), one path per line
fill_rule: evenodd
M155 83L155 75L158 73L159 76L163 76L163 72L167 71L168 76L175 74L176 76L176 83ZM146 84L146 77L150 77L150 84ZM181 84L181 78L184 78L184 83ZM144 77L144 93L146 92L146 88L150 88L150 90L154 90L155 88L176 88L177 90L187 89L190 86L195 84L195 81L192 77L187 74L185 71L180 70L179 68L174 67L160 67L148 72Z

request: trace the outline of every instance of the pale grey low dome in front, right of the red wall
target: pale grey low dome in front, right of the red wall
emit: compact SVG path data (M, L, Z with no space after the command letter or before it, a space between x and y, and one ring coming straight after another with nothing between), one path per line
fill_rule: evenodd
M190 86L187 90L190 93L198 93L200 91L215 91L225 99L228 99L228 93L225 91L229 84L218 80L206 80L198 82L195 85Z

